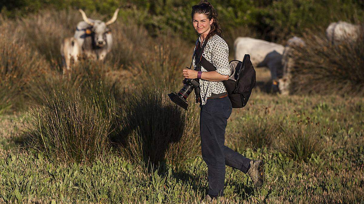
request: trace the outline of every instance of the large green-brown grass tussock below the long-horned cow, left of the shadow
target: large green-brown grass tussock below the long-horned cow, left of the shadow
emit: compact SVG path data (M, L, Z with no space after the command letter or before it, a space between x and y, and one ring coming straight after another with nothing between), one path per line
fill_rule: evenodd
M54 87L33 107L25 130L31 148L66 162L92 162L109 151L113 101L103 86L90 87L90 95Z

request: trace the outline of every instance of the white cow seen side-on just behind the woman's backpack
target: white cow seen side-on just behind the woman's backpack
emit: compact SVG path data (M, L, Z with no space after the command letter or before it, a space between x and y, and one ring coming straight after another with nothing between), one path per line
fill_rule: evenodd
M250 37L238 37L234 42L236 60L242 60L244 54L250 54L250 60L256 67L266 66L273 81L272 88L278 90L277 79L282 75L282 54L284 46Z

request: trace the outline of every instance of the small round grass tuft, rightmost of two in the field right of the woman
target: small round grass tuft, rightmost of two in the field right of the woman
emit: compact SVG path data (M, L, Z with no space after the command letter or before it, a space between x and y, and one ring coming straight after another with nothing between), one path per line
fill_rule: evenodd
M327 133L320 123L314 123L309 117L298 121L287 121L282 128L278 149L296 160L307 161L312 154L319 155L324 150L323 136Z

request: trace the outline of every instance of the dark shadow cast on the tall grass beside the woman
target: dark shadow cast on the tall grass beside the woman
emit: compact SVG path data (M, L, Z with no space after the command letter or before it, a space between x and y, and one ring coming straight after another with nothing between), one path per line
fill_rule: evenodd
M182 159L179 157L183 152L171 148L171 143L180 142L184 133L186 118L182 110L159 93L126 94L125 98L115 134L110 136L120 154L152 167L150 170L163 169L166 159Z

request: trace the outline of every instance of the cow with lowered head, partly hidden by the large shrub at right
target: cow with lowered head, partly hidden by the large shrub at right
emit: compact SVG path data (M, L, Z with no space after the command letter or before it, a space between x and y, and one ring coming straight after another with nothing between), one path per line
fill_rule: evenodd
M294 48L297 47L304 47L305 41L302 40L300 37L292 37L287 41L287 44L283 51L282 56L282 66L283 66L283 73L282 78L278 79L278 89L281 94L287 95L289 94L290 90L290 83L291 83L291 70L294 66L293 61L293 51Z

